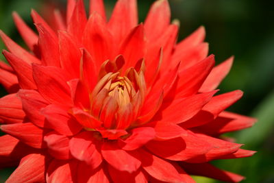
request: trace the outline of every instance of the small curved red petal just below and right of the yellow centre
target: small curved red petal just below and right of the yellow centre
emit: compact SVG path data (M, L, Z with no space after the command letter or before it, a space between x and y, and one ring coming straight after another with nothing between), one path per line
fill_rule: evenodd
M132 130L131 136L125 140L119 140L119 146L126 150L132 151L142 147L155 137L155 131L152 127L138 127Z

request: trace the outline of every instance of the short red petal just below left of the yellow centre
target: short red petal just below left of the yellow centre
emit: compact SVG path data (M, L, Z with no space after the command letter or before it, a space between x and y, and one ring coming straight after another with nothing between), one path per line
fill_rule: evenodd
M71 113L75 119L77 119L78 123L84 127L89 127L91 129L101 127L102 122L95 119L95 117L92 117L92 115L88 114L88 112L84 112L84 110L73 108Z

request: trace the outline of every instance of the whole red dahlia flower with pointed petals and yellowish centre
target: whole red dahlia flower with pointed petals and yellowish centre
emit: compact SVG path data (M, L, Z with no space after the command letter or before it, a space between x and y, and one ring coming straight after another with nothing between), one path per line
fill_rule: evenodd
M0 168L9 182L195 182L202 175L239 182L210 164L254 151L221 134L255 119L224 110L240 90L215 95L233 58L214 66L199 27L177 43L167 0L138 24L136 0L117 1L110 19L102 0L69 0L66 19L49 25L32 10L37 32L14 12L29 50L0 32ZM51 27L57 27L53 29Z

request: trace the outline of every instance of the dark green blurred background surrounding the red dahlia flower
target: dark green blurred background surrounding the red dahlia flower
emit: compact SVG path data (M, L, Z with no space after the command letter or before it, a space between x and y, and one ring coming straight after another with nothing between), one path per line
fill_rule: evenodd
M114 0L105 0L110 14ZM144 21L152 0L138 1L140 21ZM258 118L252 128L227 134L245 144L244 149L258 151L251 158L219 160L216 166L247 177L242 182L274 182L274 1L256 0L169 0L172 18L181 22L179 40L206 27L206 41L216 63L234 55L232 71L219 87L219 93L240 89L244 97L230 111ZM0 29L23 45L12 21L12 11L18 12L29 25L30 10L43 12L45 5L64 8L66 0L0 0ZM88 1L86 1L88 5ZM0 41L0 49L5 49ZM0 56L1 60L5 60ZM1 96L5 90L1 89ZM0 142L1 143L1 142ZM0 182L5 182L13 169L0 170ZM216 183L195 177L197 182Z

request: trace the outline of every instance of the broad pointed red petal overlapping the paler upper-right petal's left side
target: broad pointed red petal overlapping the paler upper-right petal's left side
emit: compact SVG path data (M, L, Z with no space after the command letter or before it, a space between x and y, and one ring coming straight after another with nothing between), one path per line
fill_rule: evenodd
M211 55L198 64L179 72L176 97L186 97L197 93L212 70L214 62L214 56Z

